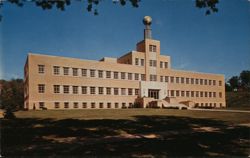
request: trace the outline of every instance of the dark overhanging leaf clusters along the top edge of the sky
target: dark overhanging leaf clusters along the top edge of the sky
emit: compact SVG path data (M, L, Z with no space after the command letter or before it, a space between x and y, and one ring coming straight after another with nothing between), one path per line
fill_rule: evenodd
M83 5L86 5L86 9L88 12L93 12L94 15L98 15L97 6L100 4L102 0L78 0L80 2L83 2ZM6 1L0 1L0 9L3 6L4 3L11 3L18 7L22 7L25 5L25 2L34 3L37 7L42 8L43 10L48 10L52 8L57 8L59 10L65 10L67 6L72 4L73 2L76 2L76 0L6 0ZM139 3L141 0L112 0L115 4L120 4L122 6L126 5L127 2L130 2L130 4L138 8ZM211 12L218 12L218 8L216 5L219 3L219 0L196 0L195 6L197 8L205 9L206 15L211 14ZM95 8L93 10L93 7ZM2 19L2 16L0 15L0 21Z

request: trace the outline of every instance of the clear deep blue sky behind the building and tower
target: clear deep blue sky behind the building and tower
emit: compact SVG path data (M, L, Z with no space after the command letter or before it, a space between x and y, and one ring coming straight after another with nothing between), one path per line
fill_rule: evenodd
M99 60L119 57L143 39L142 18L153 19L153 38L172 68L224 74L250 69L250 2L220 0L205 16L194 0L142 0L139 8L102 1L98 16L74 2L65 11L4 3L0 22L0 78L23 78L28 52Z

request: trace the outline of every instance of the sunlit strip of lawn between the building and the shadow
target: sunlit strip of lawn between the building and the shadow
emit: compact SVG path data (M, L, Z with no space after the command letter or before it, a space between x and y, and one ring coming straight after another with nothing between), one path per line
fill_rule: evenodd
M18 118L39 119L135 119L134 116L176 116L190 118L208 118L231 123L250 123L250 113L209 112L192 110L163 110L163 109L83 109L83 110L45 110L19 111Z

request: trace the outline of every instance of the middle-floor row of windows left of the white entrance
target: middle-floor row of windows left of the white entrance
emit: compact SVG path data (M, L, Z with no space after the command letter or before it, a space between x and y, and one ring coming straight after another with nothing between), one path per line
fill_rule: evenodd
M87 87L53 85L54 93L70 94L106 94L106 95L139 95L139 89L113 87ZM38 93L45 93L45 84L38 84Z

